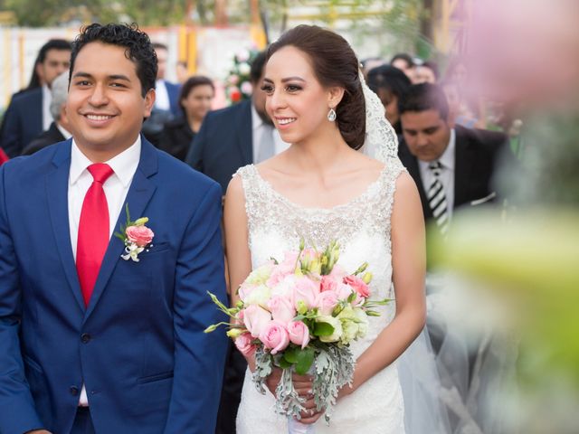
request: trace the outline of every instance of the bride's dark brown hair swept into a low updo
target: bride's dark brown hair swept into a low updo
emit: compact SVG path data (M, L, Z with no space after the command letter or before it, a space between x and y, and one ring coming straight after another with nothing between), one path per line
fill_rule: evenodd
M324 88L344 88L344 97L335 109L336 123L348 146L359 149L365 139L365 100L358 59L352 47L337 33L317 25L302 24L272 42L267 59L288 45L308 55L316 78Z

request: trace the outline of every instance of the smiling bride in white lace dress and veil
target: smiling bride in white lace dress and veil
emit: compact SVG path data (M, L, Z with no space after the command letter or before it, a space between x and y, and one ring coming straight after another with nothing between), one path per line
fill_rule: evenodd
M367 261L371 298L395 302L351 346L354 381L339 392L329 426L308 394L310 377L294 375L306 399L300 421L315 424L317 433L411 432L404 400L423 400L406 394L397 360L425 321L424 222L394 132L346 40L317 26L300 25L271 44L262 85L267 112L291 146L242 167L229 184L224 222L232 288L267 259L297 250L301 238L310 246L337 240L346 269ZM248 364L237 432L287 432L288 421L273 410L280 370L267 381L271 393L261 395L249 372L254 360ZM412 384L408 389L415 395ZM439 431L431 425L428 432Z

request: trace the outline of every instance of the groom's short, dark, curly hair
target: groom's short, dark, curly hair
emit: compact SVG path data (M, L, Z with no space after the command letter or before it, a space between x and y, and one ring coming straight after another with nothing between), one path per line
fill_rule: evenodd
M143 98L151 89L155 89L157 80L157 54L147 33L138 29L137 24L90 24L81 28L81 33L72 42L71 71L74 70L74 61L82 47L90 42L102 42L124 47L125 56L135 62L137 77L141 82Z

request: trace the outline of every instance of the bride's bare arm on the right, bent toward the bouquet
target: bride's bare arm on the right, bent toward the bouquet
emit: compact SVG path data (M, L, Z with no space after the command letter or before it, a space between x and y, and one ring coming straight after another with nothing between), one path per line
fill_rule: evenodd
M396 181L392 212L392 267L396 315L357 359L352 392L393 363L420 334L426 319L426 254L420 196L407 173Z

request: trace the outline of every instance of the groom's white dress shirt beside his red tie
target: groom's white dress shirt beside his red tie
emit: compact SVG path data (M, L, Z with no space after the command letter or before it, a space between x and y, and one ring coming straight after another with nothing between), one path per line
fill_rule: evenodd
M120 211L122 210L125 199L128 193L128 187L133 180L133 175L137 170L138 161L141 155L141 138L131 145L128 149L121 152L118 156L114 156L106 162L114 171L102 188L107 196L107 204L109 205L109 234L117 230L117 220L119 219ZM71 146L71 171L69 175L69 226L71 231L71 245L72 254L76 261L76 247L79 238L79 222L81 220L82 202L84 196L92 184L92 175L87 170L87 167L92 162L84 154L81 149L72 140ZM89 405L87 392L82 384L80 406Z

